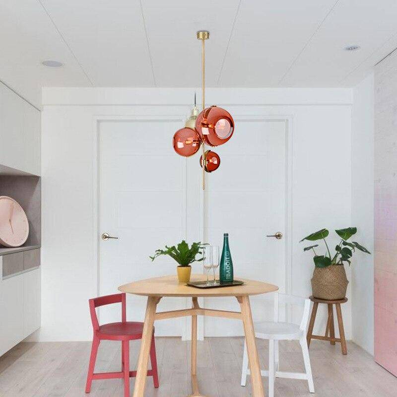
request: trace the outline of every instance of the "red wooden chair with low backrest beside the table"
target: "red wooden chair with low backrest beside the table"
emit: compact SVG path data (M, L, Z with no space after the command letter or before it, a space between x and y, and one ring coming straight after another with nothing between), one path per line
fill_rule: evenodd
M136 376L136 371L130 371L130 340L141 339L143 323L126 321L126 294L115 294L100 296L90 299L90 314L92 327L94 329L94 337L92 340L90 363L88 366L87 383L85 393L91 391L91 383L94 379L115 379L124 378L124 396L130 397L130 378ZM102 326L98 323L95 308L111 303L120 303L122 307L121 323L110 323ZM98 352L99 343L102 339L121 340L122 343L122 364L121 372L104 372L94 373L96 354ZM150 361L152 369L147 371L147 376L153 377L154 387L158 388L156 347L154 344L154 329L152 336L152 344L150 347Z

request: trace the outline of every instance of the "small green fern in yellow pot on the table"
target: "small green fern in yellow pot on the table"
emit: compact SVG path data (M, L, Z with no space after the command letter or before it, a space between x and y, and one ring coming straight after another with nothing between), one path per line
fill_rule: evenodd
M149 258L153 262L160 255L168 255L179 264L177 266L179 282L188 283L192 272L191 264L203 260L202 257L196 259L197 255L202 255L201 248L203 245L204 244L201 244L200 242L192 243L192 246L189 248L189 244L185 240L182 240L182 242L177 246L165 246L165 250L156 250L155 254Z

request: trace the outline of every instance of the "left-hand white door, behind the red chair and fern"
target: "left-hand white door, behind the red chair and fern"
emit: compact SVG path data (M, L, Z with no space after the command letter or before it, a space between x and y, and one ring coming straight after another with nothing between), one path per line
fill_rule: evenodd
M99 231L119 239L100 240L100 295L117 293L128 282L172 274L169 257L149 260L157 248L185 236L186 160L172 148L173 120L105 121L99 127ZM129 320L142 321L145 298L128 296ZM115 305L112 305L115 306ZM184 308L163 299L160 310ZM102 308L100 321L112 322L120 308ZM156 334L182 333L183 319L156 324Z

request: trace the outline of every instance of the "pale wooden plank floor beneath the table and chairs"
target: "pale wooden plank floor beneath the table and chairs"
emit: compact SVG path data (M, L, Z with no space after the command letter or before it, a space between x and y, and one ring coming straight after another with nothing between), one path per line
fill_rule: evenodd
M257 340L266 363L267 343ZM131 362L136 362L138 341L131 343ZM180 338L156 338L160 388L149 378L147 397L186 397L190 393L190 343ZM396 397L397 378L374 363L354 343L342 356L340 347L312 341L310 356L316 394L301 380L277 379L277 397ZM0 397L83 397L90 343L20 343L0 358ZM242 338L206 338L198 342L200 391L210 397L251 396L250 381L240 386ZM96 371L120 369L120 343L105 341L98 353ZM280 369L303 371L297 342L281 342ZM134 380L131 380L132 385ZM267 381L264 378L265 389ZM91 397L122 397L120 379L93 381Z

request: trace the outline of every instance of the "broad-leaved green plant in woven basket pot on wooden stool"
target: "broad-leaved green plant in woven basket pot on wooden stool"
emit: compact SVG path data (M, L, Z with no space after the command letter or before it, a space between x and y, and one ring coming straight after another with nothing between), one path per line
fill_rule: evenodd
M318 232L309 234L303 238L308 241L324 240L326 246L325 255L318 255L318 244L305 247L303 251L313 251L314 253L314 272L312 282L313 296L319 299L336 300L343 299L346 296L348 280L344 269L344 264L350 265L350 260L355 250L366 254L371 254L365 247L356 241L347 241L357 233L356 227L347 227L345 229L335 230L340 237L339 244L335 247L335 253L331 255L330 248L327 244L326 237L330 234L327 229L321 229Z

